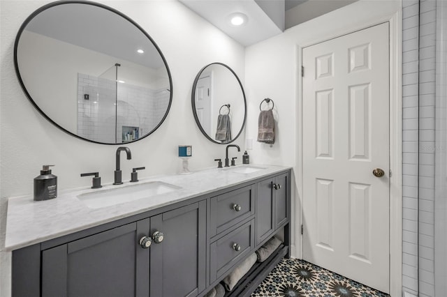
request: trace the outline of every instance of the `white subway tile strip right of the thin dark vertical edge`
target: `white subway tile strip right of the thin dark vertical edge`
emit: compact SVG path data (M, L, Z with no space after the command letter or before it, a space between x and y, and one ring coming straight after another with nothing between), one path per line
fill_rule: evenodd
M419 20L419 217L424 220L418 223L418 278L420 296L434 297L436 1L420 1Z

